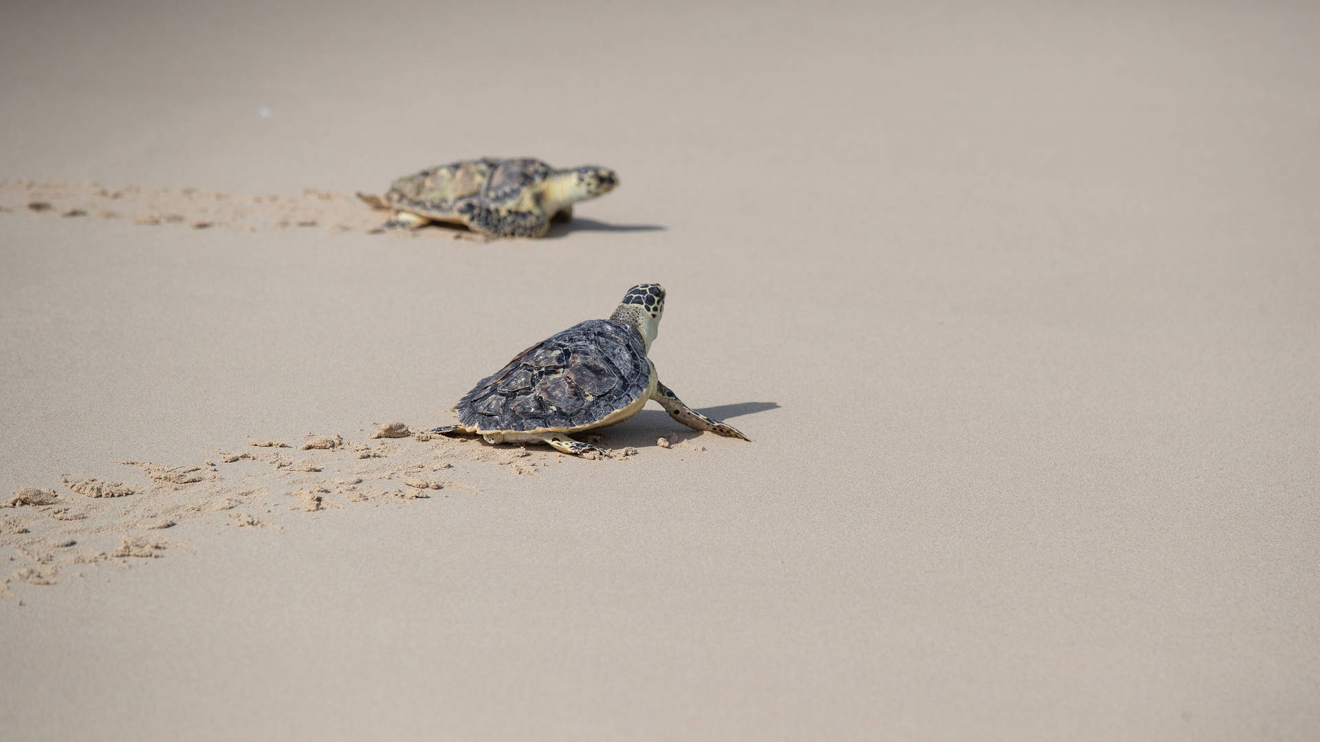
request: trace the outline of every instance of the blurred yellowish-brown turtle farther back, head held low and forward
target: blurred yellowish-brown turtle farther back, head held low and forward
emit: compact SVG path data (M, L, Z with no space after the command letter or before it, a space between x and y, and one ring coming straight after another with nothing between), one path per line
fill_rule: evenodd
M619 177L609 168L556 170L540 160L483 157L404 176L384 195L359 193L358 198L393 211L384 228L447 222L487 236L539 238L552 219L572 219L574 203L605 195L616 185Z

